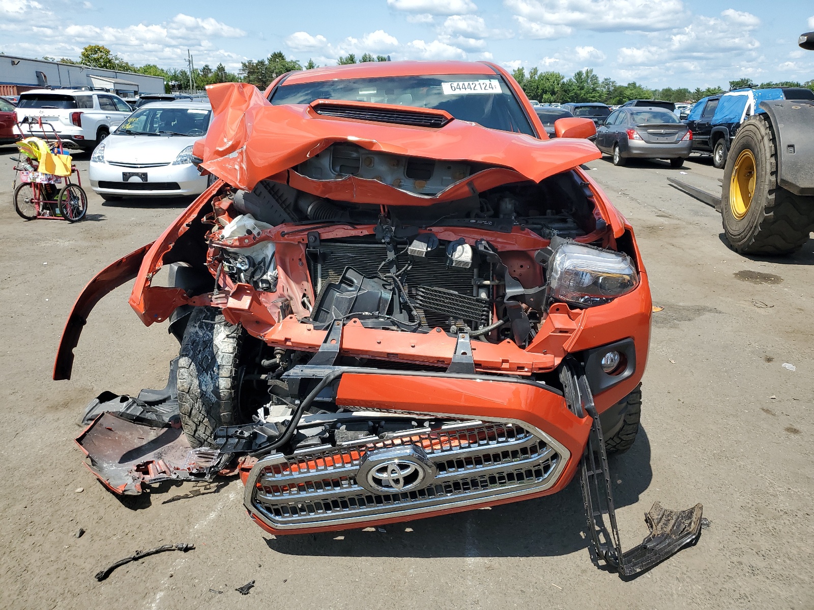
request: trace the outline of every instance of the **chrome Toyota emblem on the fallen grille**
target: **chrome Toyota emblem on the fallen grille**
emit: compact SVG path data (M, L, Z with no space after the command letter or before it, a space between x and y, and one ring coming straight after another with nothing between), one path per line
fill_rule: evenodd
M357 483L379 494L398 494L426 487L437 472L421 447L392 447L365 454Z

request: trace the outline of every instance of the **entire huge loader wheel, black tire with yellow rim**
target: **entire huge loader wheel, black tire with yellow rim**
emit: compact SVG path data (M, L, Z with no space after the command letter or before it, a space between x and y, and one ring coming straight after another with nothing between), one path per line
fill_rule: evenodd
M729 245L741 254L788 255L814 230L814 197L777 185L776 140L764 115L752 116L737 130L720 207Z

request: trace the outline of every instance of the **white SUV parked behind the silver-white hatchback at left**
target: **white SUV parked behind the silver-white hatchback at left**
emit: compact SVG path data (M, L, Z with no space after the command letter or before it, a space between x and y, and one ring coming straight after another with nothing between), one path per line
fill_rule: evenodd
M49 123L66 146L90 150L102 142L132 112L125 100L103 91L83 89L34 89L20 95L15 109L22 132L42 137L39 120ZM46 136L50 127L45 126Z

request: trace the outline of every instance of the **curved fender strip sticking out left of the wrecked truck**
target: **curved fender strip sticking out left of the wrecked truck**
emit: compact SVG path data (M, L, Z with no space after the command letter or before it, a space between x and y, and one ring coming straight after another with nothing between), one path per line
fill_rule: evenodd
M130 281L136 277L138 268L142 264L142 259L150 250L152 243L140 247L137 251L130 252L115 263L107 265L98 272L94 278L85 285L73 303L68 321L62 331L62 338L59 339L59 347L54 360L55 381L70 379L73 368L73 348L79 343L79 336L82 328L87 324L91 310L96 306L103 296L115 290L125 281Z

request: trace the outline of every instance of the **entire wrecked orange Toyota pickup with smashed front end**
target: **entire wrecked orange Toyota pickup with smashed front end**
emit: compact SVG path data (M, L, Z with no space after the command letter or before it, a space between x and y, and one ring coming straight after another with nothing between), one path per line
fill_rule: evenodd
M90 281L59 345L55 379L94 304L133 277L141 320L180 338L166 390L107 392L87 413L78 442L109 490L234 461L252 521L302 534L579 476L594 556L620 574L698 539L700 504L656 503L648 546L619 548L600 443L636 438L652 302L632 227L581 168L600 156L591 120L549 141L487 63L357 63L289 72L265 99L245 83L208 92L194 152L218 180Z

